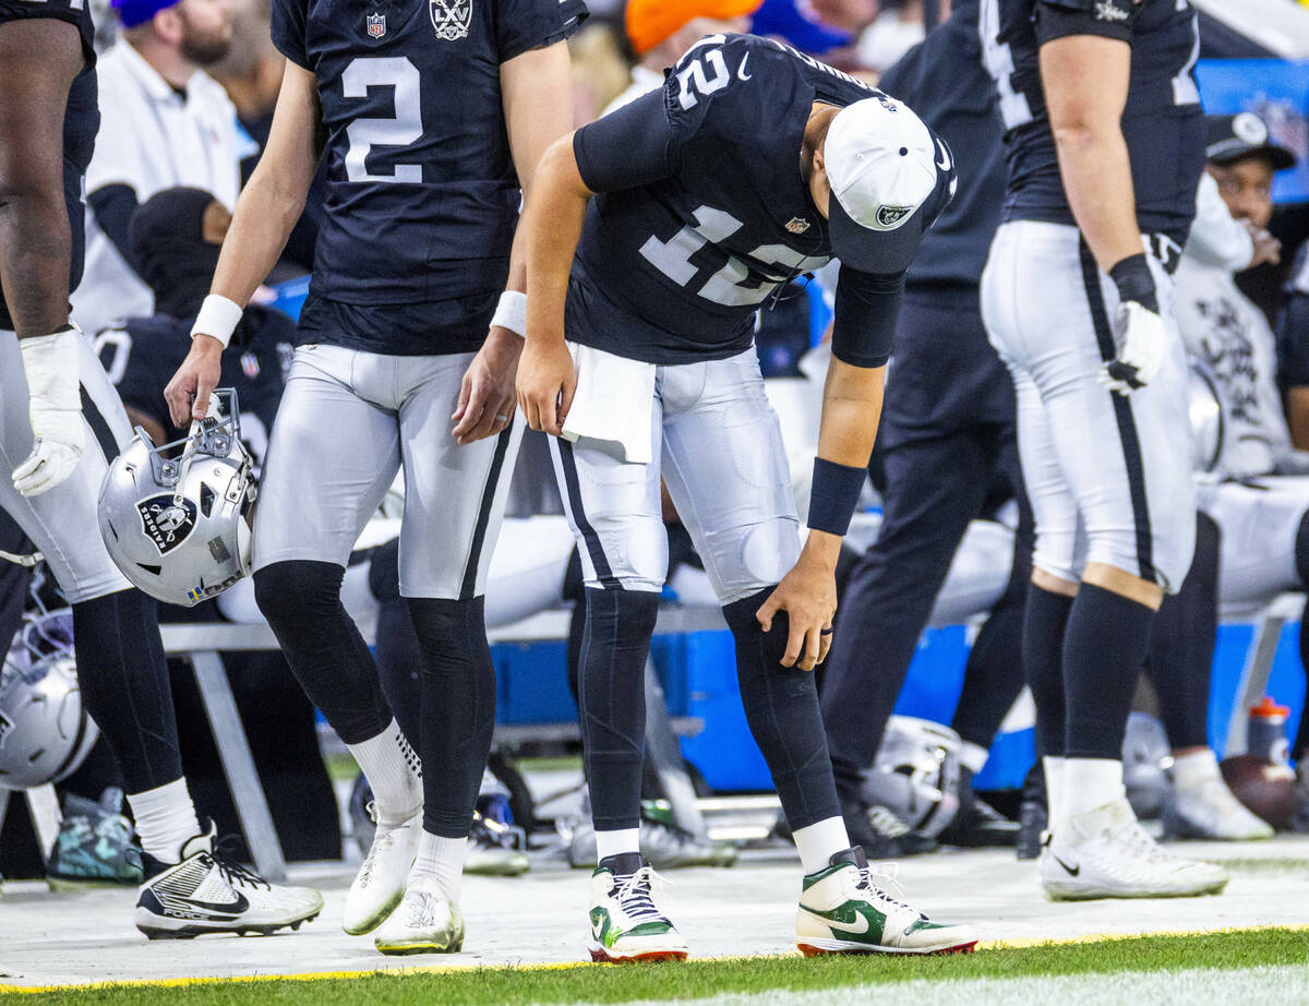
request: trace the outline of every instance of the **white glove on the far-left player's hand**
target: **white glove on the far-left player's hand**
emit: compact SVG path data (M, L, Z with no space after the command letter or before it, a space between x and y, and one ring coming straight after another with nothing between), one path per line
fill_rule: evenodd
M34 438L31 453L13 470L13 486L25 496L58 486L81 458L86 430L81 417L80 338L76 327L68 327L18 342Z

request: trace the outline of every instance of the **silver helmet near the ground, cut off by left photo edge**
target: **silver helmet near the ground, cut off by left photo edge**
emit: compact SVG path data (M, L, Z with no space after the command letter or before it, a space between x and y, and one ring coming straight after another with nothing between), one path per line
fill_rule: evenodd
M99 736L81 703L72 624L68 609L27 616L0 667L0 789L59 782Z

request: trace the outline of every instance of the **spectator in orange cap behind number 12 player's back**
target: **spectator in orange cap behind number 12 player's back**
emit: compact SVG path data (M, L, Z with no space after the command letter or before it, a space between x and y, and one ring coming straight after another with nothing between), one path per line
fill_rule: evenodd
M640 59L605 114L664 85L664 71L704 35L749 31L762 0L628 0L627 38Z

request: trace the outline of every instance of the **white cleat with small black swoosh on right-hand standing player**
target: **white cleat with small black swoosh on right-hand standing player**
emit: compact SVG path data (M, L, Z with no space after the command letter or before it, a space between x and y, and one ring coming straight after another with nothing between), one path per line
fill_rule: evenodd
M1041 854L1041 884L1052 901L1194 897L1216 895L1227 883L1221 867L1162 849L1127 800L1071 817Z

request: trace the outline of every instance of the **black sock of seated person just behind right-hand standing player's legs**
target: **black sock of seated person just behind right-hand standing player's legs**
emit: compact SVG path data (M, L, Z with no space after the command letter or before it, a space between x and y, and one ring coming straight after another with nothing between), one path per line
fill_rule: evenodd
M1219 525L1196 513L1195 558L1151 626L1148 673L1174 748L1208 747L1210 673L1219 629Z

